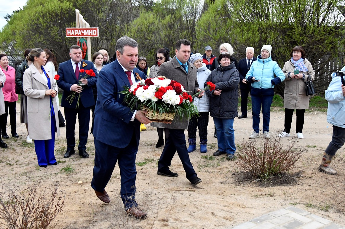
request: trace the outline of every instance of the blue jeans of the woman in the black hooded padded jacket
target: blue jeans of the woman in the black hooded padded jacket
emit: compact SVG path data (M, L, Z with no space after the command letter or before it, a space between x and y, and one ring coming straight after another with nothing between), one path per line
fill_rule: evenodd
M218 150L227 154L235 154L234 119L213 118L217 130Z

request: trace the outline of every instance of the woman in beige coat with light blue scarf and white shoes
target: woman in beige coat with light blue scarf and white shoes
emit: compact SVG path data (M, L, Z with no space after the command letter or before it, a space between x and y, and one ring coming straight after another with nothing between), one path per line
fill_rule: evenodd
M308 77L313 81L315 72L312 64L305 58L305 51L302 47L294 47L290 56L291 59L285 62L283 68L285 73L285 121L284 131L278 137L290 136L292 116L296 109L297 138L303 138L304 111L309 108L309 96L305 95L305 82Z

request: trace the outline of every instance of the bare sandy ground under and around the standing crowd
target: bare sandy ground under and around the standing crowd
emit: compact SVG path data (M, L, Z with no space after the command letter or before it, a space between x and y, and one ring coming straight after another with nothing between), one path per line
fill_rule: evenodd
M30 184L40 182L41 191L48 195L50 188L58 181L60 190L65 195L65 206L52 221L50 228L231 228L290 205L345 225L345 217L342 211L339 211L341 200L333 198L336 195L334 188L330 186L343 174L330 176L317 170L322 152L332 137L332 126L328 125L324 112L306 113L303 129L305 138L297 142L298 146L307 146L306 150L296 166L290 170L290 178L279 185L275 184L275 181L262 183L246 179L245 172L236 165L239 159L227 161L224 155L216 157L215 160L201 158L211 156L217 150L212 118L208 125L208 152L200 153L197 144L197 150L189 154L202 182L197 187L191 186L177 154L170 169L179 176L158 176L157 161L163 148L155 148L158 139L156 128L146 125L147 130L141 132L136 161L149 162L137 166L136 200L139 207L148 212L148 218L136 220L126 217L124 212L119 195L118 167L106 187L111 202L105 204L95 196L90 186L95 157L92 135L89 135L87 143L90 158L80 158L76 153L64 159L65 128L60 128L61 136L56 139L55 152L59 164L39 168L33 144L25 142L26 129L23 124L19 124L19 109L18 104L17 132L20 138L6 139L9 148L0 148L2 183L9 186L16 184L25 191ZM63 112L63 108L61 110ZM271 112L270 132L273 135L281 131L283 126L284 111L276 108ZM292 126L291 135L296 136L295 120ZM9 123L7 128L10 133ZM234 129L236 145L248 141L248 136L253 131L252 118L235 118ZM187 139L187 131L185 133ZM282 139L284 144L289 140L291 137ZM255 141L263 140L257 138ZM343 157L344 150L340 149L332 162L335 168L344 168ZM61 170L64 167L73 168L74 171L66 173ZM78 184L79 181L83 183ZM326 209L328 211L325 211Z

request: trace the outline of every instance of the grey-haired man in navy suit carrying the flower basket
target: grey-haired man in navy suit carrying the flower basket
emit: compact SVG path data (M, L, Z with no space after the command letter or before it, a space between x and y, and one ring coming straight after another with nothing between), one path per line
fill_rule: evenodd
M140 138L140 123L151 121L145 117L147 111L131 111L123 104L124 95L118 92L132 82L145 79L145 74L135 68L138 62L138 44L129 37L116 42L117 60L103 67L97 80L98 96L95 108L93 136L95 137L95 166L91 186L96 196L105 203L110 198L105 187L112 171L119 163L121 176L121 199L128 215L146 217L135 201L137 171L135 158Z

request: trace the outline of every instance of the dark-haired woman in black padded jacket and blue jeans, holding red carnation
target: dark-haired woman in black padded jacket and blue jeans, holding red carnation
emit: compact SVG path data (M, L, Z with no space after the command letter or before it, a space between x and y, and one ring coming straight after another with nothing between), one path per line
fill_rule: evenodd
M239 74L229 52L221 52L218 60L220 65L206 80L216 84L215 90L206 91L210 97L210 116L213 117L218 137L218 150L213 156L226 153L226 158L231 160L236 152L233 126L237 115Z

